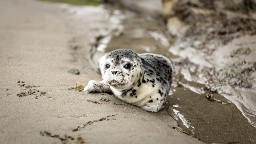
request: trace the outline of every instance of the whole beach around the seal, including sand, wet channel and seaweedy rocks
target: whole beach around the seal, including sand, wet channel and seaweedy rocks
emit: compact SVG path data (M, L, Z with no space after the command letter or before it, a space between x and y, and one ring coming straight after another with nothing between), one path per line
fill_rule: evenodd
M255 143L255 11L218 0L52 1L0 1L0 144ZM159 112L82 92L101 80L99 58L124 48L172 61Z

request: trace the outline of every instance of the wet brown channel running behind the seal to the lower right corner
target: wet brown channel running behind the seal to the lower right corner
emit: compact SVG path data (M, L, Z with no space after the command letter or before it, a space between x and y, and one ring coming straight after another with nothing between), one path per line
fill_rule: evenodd
M256 141L256 128L250 125L235 104L223 96L193 82L193 64L189 60L168 52L172 41L161 37L168 36L165 25L152 17L140 14L129 17L123 22L122 35L113 36L105 52L128 48L138 53L151 52L165 55L175 60L175 76L164 111L178 122L189 135L206 143L253 143ZM185 68L189 67L189 75ZM182 70L183 69L183 70ZM184 76L186 78L184 78ZM198 80L198 78L197 78ZM212 92L213 98L207 99Z

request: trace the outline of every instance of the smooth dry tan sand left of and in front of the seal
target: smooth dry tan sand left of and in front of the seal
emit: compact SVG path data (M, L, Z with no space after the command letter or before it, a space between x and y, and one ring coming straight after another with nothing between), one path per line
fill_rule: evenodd
M145 112L108 94L68 90L76 81L100 78L88 64L88 53L92 29L100 26L102 15L88 9L92 13L81 19L57 4L0 1L0 144L61 144L58 138L42 136L44 130L78 138L67 138L70 143L201 143L172 129L176 122L164 111ZM80 75L67 73L73 67ZM29 89L46 94L16 95ZM108 115L115 116L72 132Z

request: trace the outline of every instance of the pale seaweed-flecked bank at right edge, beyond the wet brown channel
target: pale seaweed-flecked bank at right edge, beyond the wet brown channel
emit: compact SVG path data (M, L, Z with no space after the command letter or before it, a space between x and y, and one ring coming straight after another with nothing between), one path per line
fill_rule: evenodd
M256 54L255 39L255 35L236 38L225 46L216 47L212 55L205 55L204 52L193 48L181 49L182 44L175 44L169 49L176 55L187 57L188 61L193 62L196 64L195 67L199 68L198 71L192 72L189 69L190 64L183 66L181 74L187 81L207 84L218 89L218 93L232 101L253 127L256 127L256 90L254 87L256 86L254 76L256 75L256 68L253 66L256 61L254 58ZM239 53L237 51L242 48L250 49L250 54L230 56ZM197 55L197 57L193 55ZM211 67L206 68L205 65Z

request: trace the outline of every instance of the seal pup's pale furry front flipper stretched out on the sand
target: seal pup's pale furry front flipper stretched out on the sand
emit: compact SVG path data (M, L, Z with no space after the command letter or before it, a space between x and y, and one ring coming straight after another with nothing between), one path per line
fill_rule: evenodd
M111 89L103 81L90 80L88 85L84 87L84 92L111 92Z

